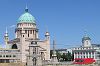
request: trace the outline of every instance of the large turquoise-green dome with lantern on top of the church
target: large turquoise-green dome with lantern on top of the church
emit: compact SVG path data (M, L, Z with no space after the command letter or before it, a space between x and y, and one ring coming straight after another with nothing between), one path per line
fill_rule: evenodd
M28 9L26 8L25 13L19 17L18 23L35 23L35 18L28 12Z

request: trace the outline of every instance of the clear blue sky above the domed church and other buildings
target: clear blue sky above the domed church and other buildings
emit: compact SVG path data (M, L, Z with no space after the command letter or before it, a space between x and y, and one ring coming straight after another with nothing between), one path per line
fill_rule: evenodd
M15 37L17 20L24 13L26 3L35 17L39 37L44 38L48 28L57 48L81 45L84 31L92 43L100 43L100 0L0 0L0 44L8 27L10 39ZM52 45L51 45L52 46Z

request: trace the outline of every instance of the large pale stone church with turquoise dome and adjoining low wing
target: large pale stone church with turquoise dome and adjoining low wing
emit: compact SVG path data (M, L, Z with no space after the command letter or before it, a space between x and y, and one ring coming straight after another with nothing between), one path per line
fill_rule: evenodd
M0 48L0 63L26 63L27 55L29 55L29 44L31 41L37 41L41 51L40 55L44 55L44 59L50 60L50 34L45 32L45 39L40 40L38 37L38 28L35 18L29 13L26 7L16 25L15 39L9 40L8 32L5 33L6 48ZM36 49L31 49L31 53Z

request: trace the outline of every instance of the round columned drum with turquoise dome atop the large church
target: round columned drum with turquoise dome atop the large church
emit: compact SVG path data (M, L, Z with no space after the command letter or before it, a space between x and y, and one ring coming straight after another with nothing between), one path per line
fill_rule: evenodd
M16 38L38 38L38 29L36 27L35 18L28 12L27 7L25 9L25 13L18 19L15 33Z

